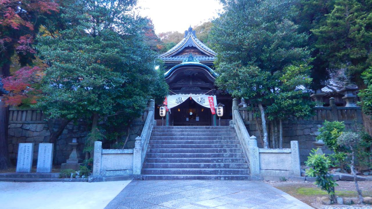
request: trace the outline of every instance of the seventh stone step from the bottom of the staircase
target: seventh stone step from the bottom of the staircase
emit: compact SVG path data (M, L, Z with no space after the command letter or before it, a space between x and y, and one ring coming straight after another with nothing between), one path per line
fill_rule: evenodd
M241 148L240 144L150 144L151 149L174 149L174 148Z

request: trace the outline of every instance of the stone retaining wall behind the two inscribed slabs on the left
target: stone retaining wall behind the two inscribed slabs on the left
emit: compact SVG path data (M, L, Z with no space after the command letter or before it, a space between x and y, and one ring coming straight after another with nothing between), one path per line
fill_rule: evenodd
M125 148L134 148L135 138L141 135L144 120L147 117L146 114L147 110L145 110L145 113L141 118L134 121L134 124L130 128L129 138ZM60 124L61 121L57 120L54 128L57 129ZM66 160L69 158L72 146L68 143L72 142L72 138L77 138L79 143L77 151L80 154L80 158L84 159L85 155L83 154L83 149L87 134L88 128L85 122L79 121L77 124L70 122L57 141L57 164L66 163ZM48 143L49 136L50 132L48 130L48 124L45 121L44 114L42 114L40 110L19 110L16 108L10 108L8 150L12 164L16 164L19 143L34 143L33 165L36 165L39 144L43 142ZM122 137L125 140L126 136ZM108 144L104 144L104 147L110 148L108 147Z

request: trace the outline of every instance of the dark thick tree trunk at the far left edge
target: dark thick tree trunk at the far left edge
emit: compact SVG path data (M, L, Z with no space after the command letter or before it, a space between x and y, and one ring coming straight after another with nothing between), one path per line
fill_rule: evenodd
M0 100L2 97L0 96ZM0 170L7 169L10 165L8 151L8 117L9 108L0 101Z

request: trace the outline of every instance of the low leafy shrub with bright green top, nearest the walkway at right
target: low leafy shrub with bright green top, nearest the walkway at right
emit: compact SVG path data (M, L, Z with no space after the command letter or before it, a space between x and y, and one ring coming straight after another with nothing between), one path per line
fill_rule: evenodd
M315 183L323 191L326 191L333 202L336 202L336 196L334 194L334 187L338 186L336 180L333 180L328 169L333 166L331 159L324 154L317 154L317 150L312 149L312 154L308 156L308 160L305 162L310 168L306 170L306 174L311 177L315 177Z

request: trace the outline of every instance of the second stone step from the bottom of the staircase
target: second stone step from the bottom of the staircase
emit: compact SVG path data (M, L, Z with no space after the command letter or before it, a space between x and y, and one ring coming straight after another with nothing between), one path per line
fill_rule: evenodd
M142 174L199 174L232 175L249 174L248 168L143 168Z

